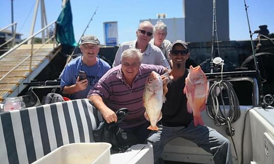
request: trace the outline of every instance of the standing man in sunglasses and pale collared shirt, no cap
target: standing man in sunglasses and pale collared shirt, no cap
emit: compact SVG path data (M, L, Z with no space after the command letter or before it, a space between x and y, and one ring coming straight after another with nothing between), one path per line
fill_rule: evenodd
M143 53L143 64L162 65L168 69L170 66L168 61L164 57L161 50L149 44L153 36L153 25L149 21L140 23L138 30L136 30L137 40L122 43L116 53L113 66L117 66L120 63L121 54L127 49L139 49Z

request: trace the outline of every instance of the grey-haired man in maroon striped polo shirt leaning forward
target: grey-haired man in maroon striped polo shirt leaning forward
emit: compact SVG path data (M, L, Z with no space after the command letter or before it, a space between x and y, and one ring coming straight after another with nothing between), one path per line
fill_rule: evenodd
M88 98L102 113L108 123L116 122L115 111L127 108L129 114L120 128L137 136L137 143L143 143L150 130L150 123L144 117L143 93L146 79L155 71L167 72L163 66L141 64L142 53L137 49L127 49L121 55L121 64L110 69L90 90Z

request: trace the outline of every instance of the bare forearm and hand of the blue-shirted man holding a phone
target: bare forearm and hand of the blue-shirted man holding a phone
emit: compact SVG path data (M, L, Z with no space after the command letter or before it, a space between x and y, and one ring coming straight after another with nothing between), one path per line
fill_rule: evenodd
M76 92L85 90L88 86L88 80L83 79L79 81L79 77L77 77L76 83L71 86L64 86L63 93L64 94L74 94Z

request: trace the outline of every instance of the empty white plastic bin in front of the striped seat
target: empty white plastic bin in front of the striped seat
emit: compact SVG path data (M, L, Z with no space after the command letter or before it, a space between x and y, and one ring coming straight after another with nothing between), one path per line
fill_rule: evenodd
M44 157L33 162L35 164L109 164L109 143L73 143L61 146Z

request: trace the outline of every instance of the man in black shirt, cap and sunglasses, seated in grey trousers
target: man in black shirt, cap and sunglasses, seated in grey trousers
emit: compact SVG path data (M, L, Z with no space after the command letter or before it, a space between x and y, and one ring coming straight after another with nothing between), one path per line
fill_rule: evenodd
M163 74L169 78L166 101L162 106L159 130L151 132L148 143L153 145L154 162L160 163L164 146L171 140L182 137L196 143L213 155L215 163L232 163L230 142L216 130L207 126L194 126L193 114L187 111L187 98L183 93L188 75L186 60L189 58L188 45L182 40L172 44L169 53L173 68ZM160 160L159 160L160 159Z

